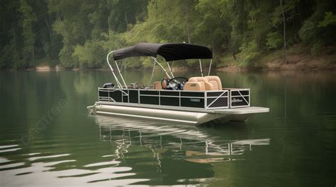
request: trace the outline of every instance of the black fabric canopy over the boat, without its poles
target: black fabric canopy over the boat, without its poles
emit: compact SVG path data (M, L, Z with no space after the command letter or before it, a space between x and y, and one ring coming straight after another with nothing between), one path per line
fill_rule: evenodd
M153 56L157 54L166 61L176 61L181 59L212 59L213 54L208 47L185 44L185 43L139 43L132 47L117 49L113 52L113 59L125 59L133 56Z

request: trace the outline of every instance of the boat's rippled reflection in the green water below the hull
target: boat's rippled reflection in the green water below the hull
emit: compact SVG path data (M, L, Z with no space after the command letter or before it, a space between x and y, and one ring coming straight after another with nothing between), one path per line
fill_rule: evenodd
M121 166L131 167L135 174L151 179L144 184L199 183L214 176L213 162L239 161L245 159L244 153L252 151L254 146L270 143L269 138L246 138L249 136L247 124L242 122L234 124L238 128L232 128L233 124L229 123L224 126L226 129L223 126L216 129L94 117L99 124L100 140L116 145L114 154L103 157L113 157L113 161L122 162Z

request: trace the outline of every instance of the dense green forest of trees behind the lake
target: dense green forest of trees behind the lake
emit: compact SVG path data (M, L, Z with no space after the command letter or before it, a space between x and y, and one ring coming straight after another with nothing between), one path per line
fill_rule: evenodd
M252 66L271 52L288 63L293 46L319 56L336 44L335 0L3 0L0 8L0 69L104 68L109 51L138 42L206 45L218 67Z

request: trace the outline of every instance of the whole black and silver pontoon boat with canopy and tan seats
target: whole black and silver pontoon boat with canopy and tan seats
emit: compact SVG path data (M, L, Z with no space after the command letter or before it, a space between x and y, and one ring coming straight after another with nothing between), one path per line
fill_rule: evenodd
M118 71L117 77L109 63L109 56ZM167 62L167 70L157 61L157 55ZM144 86L140 81L125 83L118 60L134 56L148 56L165 73L165 78ZM98 88L99 101L88 107L94 114L136 117L142 119L201 124L209 121L245 121L269 108L250 107L249 88L223 88L218 76L210 76L213 54L208 47L186 43L139 43L108 53L106 60L116 85L106 83ZM169 61L199 59L201 76L174 77ZM204 76L201 59L210 59L208 76Z

